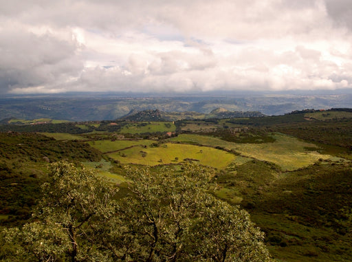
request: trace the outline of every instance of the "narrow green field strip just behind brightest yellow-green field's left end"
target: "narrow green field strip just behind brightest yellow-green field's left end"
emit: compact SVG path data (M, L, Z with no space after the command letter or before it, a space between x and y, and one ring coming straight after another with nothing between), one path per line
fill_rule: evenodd
M97 140L97 141L89 141L88 144L98 149L102 153L107 153L111 151L118 151L122 149L126 149L131 146L149 146L153 144L153 140Z

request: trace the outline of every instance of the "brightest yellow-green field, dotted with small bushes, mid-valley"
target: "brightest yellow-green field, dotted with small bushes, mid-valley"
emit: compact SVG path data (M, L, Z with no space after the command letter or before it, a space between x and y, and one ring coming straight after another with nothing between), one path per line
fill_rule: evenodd
M191 144L162 144L158 147L143 148L142 146L126 149L118 153L111 153L109 157L122 164L143 164L155 166L158 164L171 164L189 158L199 160L199 164L214 168L225 168L236 160L236 155L219 149Z

